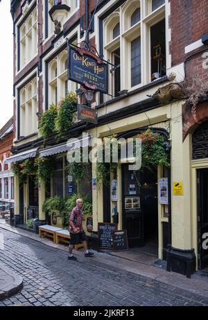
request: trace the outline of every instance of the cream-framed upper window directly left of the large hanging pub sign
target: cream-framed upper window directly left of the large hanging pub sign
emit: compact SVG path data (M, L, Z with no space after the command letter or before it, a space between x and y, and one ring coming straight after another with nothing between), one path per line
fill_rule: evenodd
M49 73L49 105L64 98L68 92L75 92L78 84L67 81L67 50L63 50L48 64Z

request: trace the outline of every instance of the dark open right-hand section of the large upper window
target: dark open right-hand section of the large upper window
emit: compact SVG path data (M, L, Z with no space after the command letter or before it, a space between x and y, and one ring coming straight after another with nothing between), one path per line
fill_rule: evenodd
M165 19L150 28L151 80L166 75Z

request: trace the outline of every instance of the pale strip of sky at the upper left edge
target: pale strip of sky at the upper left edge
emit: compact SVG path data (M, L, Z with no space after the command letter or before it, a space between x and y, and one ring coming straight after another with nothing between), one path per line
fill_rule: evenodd
M0 2L0 128L13 115L13 24L10 0Z

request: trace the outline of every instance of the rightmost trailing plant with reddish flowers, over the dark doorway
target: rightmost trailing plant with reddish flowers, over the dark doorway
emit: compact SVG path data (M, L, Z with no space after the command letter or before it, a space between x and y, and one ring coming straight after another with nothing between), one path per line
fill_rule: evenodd
M141 167L151 170L158 165L170 166L163 135L148 129L139 137L141 138Z

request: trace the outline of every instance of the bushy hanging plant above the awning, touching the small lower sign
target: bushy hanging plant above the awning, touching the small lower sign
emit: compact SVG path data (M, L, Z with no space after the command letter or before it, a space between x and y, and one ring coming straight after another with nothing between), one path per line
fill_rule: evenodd
M58 103L58 115L55 120L55 128L58 137L65 137L67 130L73 124L73 113L77 110L76 94L70 92Z

